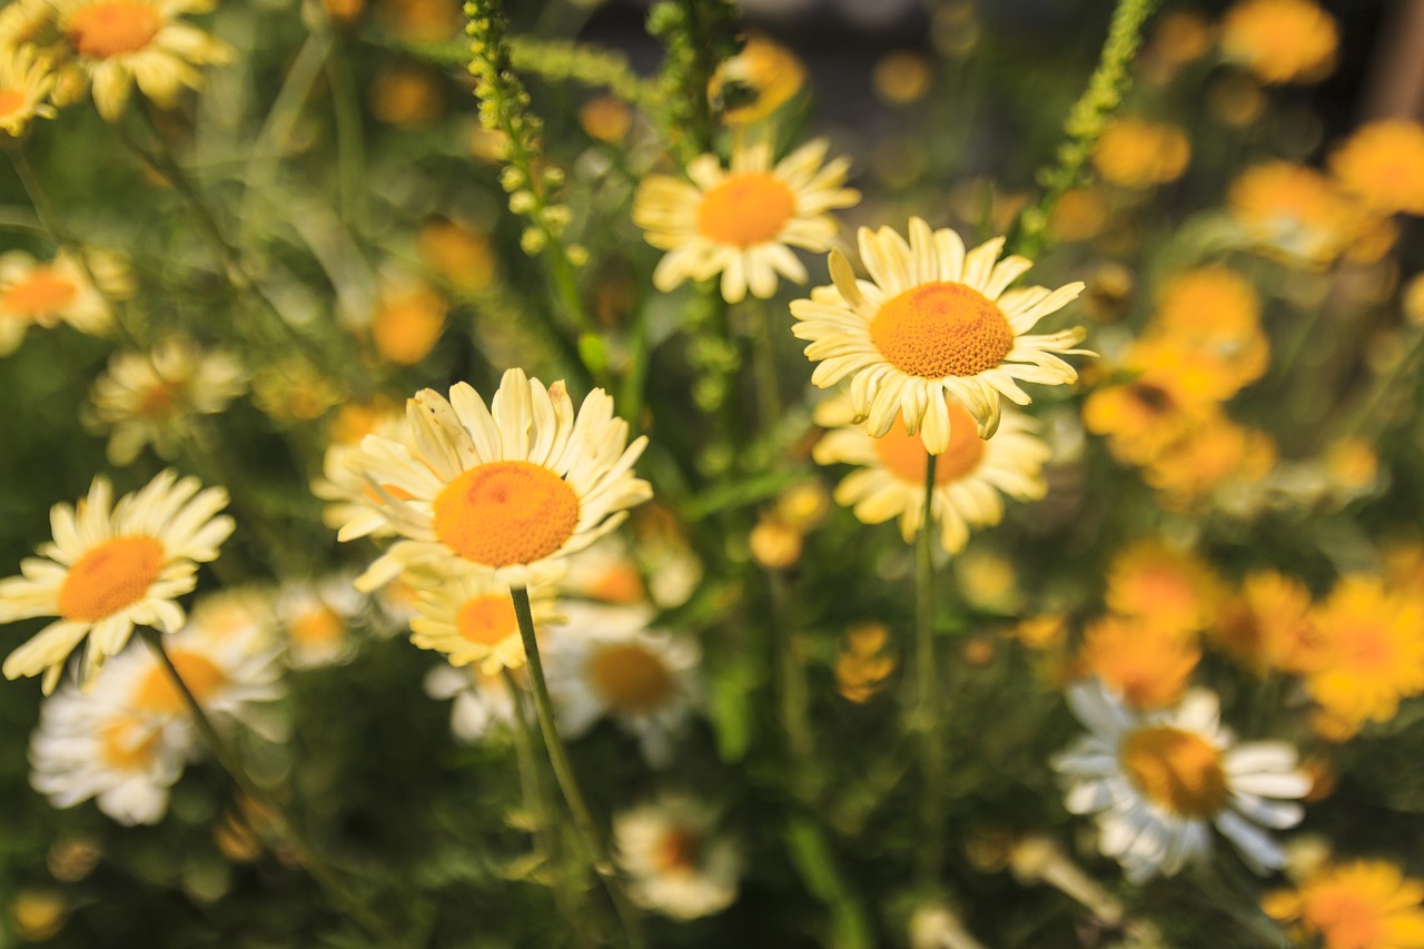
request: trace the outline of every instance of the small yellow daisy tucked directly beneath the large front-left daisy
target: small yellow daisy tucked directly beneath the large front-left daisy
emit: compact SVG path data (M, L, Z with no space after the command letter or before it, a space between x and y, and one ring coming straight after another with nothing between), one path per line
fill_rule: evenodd
M541 630L557 616L554 587L533 587L528 593L534 628ZM508 584L486 574L456 574L439 577L429 588L417 580L416 596L410 641L420 648L444 653L451 665L478 663L486 675L524 665L524 641Z

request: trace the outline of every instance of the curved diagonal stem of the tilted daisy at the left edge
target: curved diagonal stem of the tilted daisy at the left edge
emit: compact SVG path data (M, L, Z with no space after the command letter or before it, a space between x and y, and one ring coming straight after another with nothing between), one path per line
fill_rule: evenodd
M298 861L312 875L316 885L336 903L343 913L346 913L353 922L359 923L366 932L380 940L384 946L397 946L400 939L394 932L384 923L384 921L370 909L369 903L353 893L346 883L332 871L328 864L320 859L316 852L308 844L306 838L293 826L288 819L286 811L282 804L263 788L256 781L248 775L238 755L232 751L218 730L212 725L212 720L202 710L198 698L188 688L188 683L184 681L182 675L178 673L178 667L174 665L172 657L168 650L164 648L164 638L158 630L151 627L140 627L138 634L142 637L144 643L154 651L158 661L162 663L164 668L172 677L174 684L178 687L178 693L182 695L184 702L188 705L188 711L192 712L194 724L198 725L198 731L202 734L204 741L212 750L214 757L218 758L218 764L222 769L228 772L234 784L256 802L268 819L271 819L272 826L282 836L288 846L296 854Z

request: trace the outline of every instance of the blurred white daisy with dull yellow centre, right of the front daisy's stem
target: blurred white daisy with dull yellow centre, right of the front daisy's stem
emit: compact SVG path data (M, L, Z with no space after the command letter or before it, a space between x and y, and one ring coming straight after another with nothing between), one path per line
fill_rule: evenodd
M646 630L646 610L561 608L567 617L550 627L544 657L560 734L577 738L607 715L638 737L649 764L669 764L672 740L702 697L698 644Z

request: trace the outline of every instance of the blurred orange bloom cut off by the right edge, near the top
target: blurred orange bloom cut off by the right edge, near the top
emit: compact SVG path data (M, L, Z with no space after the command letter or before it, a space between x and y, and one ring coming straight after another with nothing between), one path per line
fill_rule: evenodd
M1340 187L1380 214L1424 214L1424 127L1384 118L1354 131L1330 155Z

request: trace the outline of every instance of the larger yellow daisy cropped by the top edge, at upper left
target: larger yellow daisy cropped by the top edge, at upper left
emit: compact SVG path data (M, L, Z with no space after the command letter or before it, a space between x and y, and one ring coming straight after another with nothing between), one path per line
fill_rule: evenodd
M199 88L199 66L221 66L232 50L181 21L185 13L208 13L216 0L54 0L60 31L90 76L94 105L117 120L128 93L140 91L162 108L178 93Z

